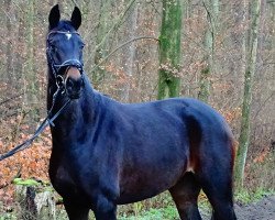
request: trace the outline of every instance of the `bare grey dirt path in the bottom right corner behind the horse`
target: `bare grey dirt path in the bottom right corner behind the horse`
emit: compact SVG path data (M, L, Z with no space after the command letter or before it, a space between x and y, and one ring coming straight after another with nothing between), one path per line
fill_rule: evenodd
M275 195L243 206L235 205L238 220L275 220Z

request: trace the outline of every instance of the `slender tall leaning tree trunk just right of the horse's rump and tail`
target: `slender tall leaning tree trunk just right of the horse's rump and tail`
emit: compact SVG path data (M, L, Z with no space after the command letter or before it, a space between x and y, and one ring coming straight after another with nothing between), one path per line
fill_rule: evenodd
M246 58L246 67L244 73L244 94L242 106L242 121L241 133L239 138L239 150L237 154L235 163L235 186L238 189L243 187L244 167L250 144L250 116L251 116L251 102L252 102L252 88L253 78L255 74L255 62L257 55L257 38L258 38L258 23L261 12L261 0L253 0L251 4L251 26L250 26L250 44L249 54Z

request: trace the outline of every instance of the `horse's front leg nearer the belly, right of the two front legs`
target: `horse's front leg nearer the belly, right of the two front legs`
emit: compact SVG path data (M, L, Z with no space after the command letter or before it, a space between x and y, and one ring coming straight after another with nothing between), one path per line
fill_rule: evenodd
M97 220L117 220L117 205L105 196L100 196L95 207Z

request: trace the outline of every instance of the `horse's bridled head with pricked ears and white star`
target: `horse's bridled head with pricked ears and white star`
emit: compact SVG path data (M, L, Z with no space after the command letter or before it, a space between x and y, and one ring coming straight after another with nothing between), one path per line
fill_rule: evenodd
M79 98L84 87L82 48L84 42L77 30L81 24L81 13L77 7L70 21L61 20L58 4L48 16L47 62L50 77L57 86L63 86L70 99Z

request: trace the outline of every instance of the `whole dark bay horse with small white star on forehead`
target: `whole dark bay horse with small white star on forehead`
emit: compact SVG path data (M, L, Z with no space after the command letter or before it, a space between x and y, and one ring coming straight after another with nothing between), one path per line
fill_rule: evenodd
M224 119L195 99L127 105L99 94L82 69L79 9L67 21L55 6L48 20L47 108L70 100L51 127L50 177L69 219L87 220L91 209L97 220L114 220L117 205L169 190L180 219L198 220L201 189L215 220L235 219Z

